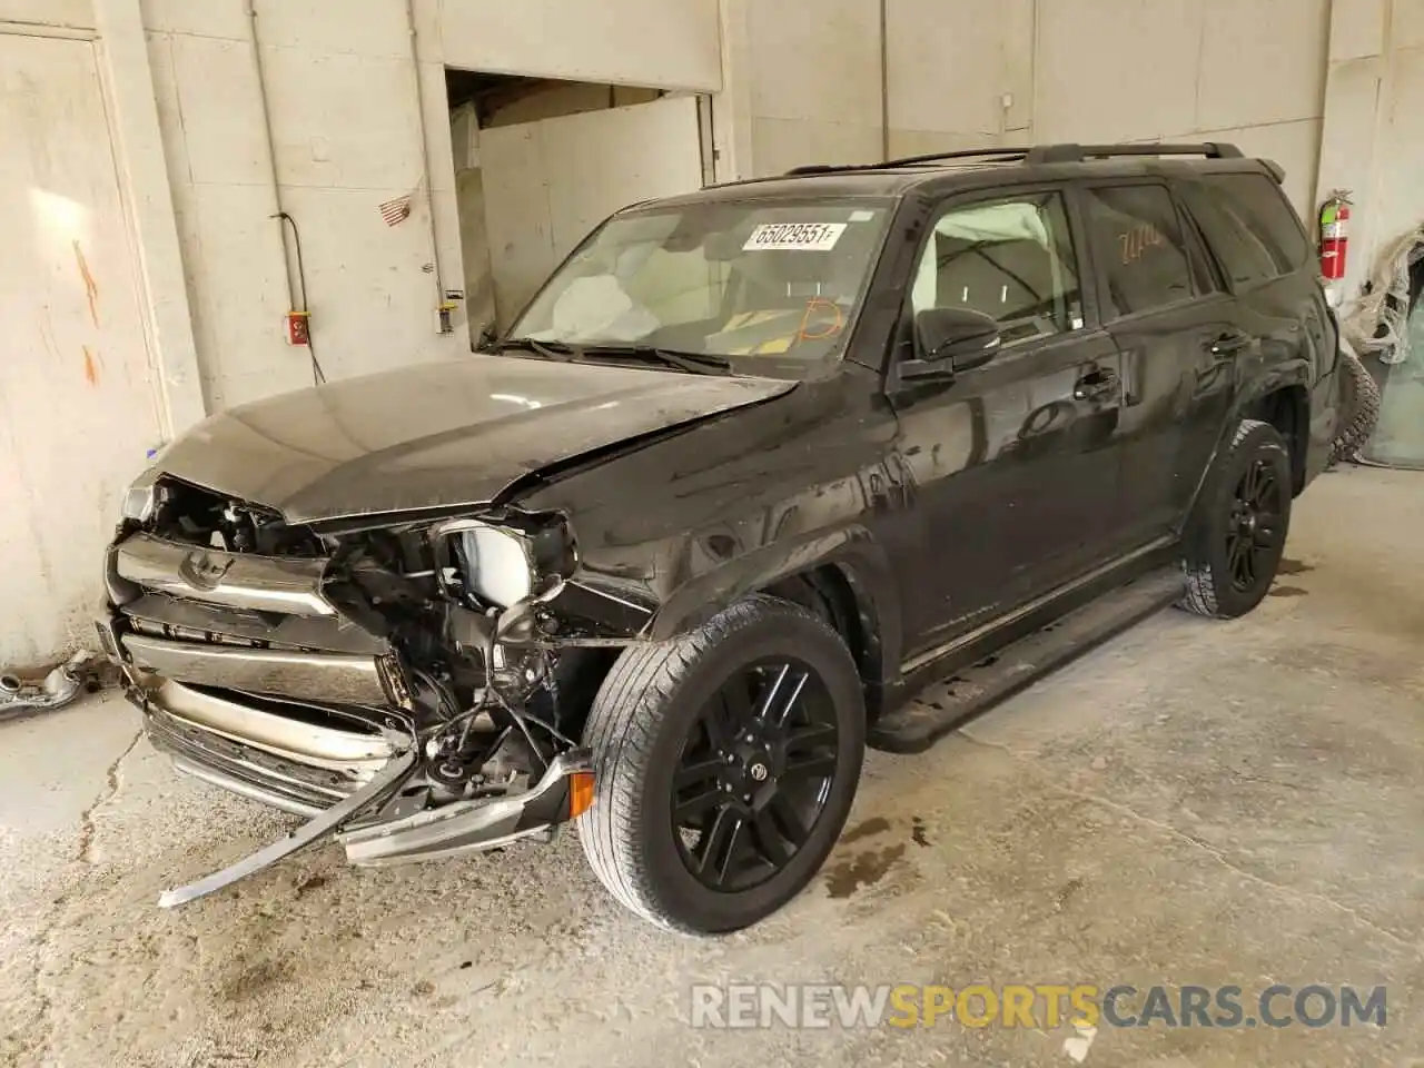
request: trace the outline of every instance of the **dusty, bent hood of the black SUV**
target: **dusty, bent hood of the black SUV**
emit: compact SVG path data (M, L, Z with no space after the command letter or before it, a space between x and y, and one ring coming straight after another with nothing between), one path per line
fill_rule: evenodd
M289 523L480 504L550 464L795 384L470 356L224 412L178 439L154 473L278 508Z

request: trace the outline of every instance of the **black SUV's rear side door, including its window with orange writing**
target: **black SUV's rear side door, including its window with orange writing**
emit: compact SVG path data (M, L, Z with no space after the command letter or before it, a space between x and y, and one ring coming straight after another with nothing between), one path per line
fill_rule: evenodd
M1256 345L1161 179L1085 185L1102 320L1122 357L1121 548L1172 531L1227 419Z

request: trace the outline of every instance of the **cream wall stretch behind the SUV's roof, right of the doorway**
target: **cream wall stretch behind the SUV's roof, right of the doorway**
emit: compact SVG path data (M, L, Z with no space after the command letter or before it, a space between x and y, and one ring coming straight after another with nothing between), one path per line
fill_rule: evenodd
M884 0L884 114L880 0L725 1L745 97L723 101L729 172L886 142L1222 140L1280 162L1299 208L1313 199L1330 0Z

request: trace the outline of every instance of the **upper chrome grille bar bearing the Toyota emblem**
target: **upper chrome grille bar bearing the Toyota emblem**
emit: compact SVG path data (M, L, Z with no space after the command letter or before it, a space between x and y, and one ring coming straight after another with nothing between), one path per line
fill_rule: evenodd
M322 597L325 560L224 553L152 534L124 538L114 551L120 578L147 590L259 612L336 615Z

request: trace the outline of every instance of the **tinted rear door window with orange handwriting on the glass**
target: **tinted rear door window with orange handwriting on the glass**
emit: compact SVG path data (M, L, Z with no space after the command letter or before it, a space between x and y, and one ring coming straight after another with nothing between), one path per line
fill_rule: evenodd
M1195 295L1192 263L1166 187L1089 189L1088 226L1106 282L1106 318L1151 312Z

